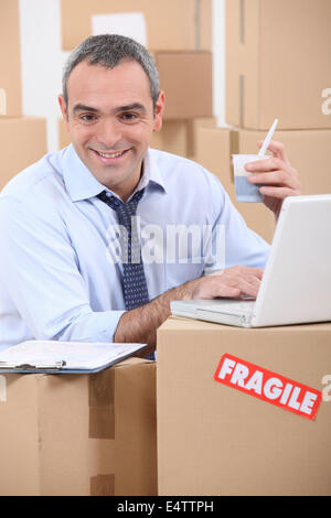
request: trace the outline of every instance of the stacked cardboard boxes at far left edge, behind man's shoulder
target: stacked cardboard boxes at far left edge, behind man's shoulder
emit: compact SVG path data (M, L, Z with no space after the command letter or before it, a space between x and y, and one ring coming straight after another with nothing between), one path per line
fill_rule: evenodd
M0 190L46 153L46 121L22 117L19 1L0 4Z

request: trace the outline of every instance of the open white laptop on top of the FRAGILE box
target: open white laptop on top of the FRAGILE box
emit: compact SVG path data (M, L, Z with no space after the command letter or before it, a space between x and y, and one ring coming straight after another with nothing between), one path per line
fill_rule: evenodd
M173 301L171 312L242 327L331 321L331 194L284 201L256 300Z

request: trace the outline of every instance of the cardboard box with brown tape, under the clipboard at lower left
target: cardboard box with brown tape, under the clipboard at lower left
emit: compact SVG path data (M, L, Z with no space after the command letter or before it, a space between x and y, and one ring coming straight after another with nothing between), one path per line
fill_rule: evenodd
M1 375L0 417L1 495L157 494L153 361Z

